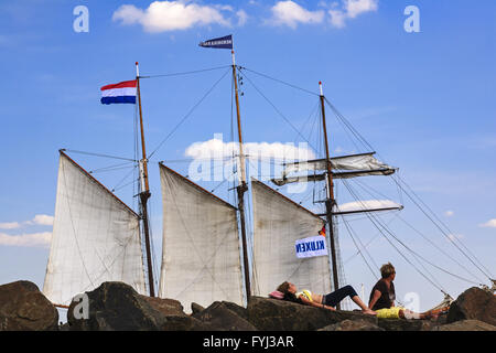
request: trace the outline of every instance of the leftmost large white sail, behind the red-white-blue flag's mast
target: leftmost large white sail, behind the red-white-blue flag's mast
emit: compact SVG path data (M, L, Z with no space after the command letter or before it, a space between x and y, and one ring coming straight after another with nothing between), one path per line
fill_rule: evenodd
M145 295L139 216L61 152L44 295L68 306L105 281Z

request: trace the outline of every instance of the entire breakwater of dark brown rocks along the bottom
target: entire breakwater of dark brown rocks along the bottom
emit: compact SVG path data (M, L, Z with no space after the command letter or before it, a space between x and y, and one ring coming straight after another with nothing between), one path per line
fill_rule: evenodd
M31 282L0 286L0 330L63 331L496 331L496 298L477 288L462 293L448 315L432 320L378 320L359 311L330 311L252 297L247 308L217 301L192 304L186 314L172 299L139 295L122 282L105 282L74 300L67 323Z

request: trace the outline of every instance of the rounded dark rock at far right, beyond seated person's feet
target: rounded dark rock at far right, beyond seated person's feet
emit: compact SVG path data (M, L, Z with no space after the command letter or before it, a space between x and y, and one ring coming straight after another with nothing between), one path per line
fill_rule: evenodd
M451 303L446 322L461 320L478 320L496 325L496 297L476 287L465 290Z

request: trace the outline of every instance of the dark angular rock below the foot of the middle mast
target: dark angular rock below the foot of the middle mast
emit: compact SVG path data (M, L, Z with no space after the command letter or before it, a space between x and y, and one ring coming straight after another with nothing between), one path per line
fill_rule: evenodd
M216 301L200 313L193 314L193 318L205 323L208 331L257 331L256 327L242 318L245 310L231 302Z

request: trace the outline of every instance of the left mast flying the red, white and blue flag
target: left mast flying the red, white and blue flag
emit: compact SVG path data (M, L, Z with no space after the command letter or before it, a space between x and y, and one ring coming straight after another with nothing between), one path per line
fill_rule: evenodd
M136 81L137 81L137 90L138 90L138 105L140 110L140 128L141 128L141 149L143 152L143 158L140 160L140 181L141 181L141 221L143 223L143 233L144 233L144 246L147 249L147 266L148 266L148 282L150 286L150 297L155 296L154 284L153 284L153 269L152 269L152 258L151 258L151 246L150 246L150 227L149 227L149 218L148 218L148 200L151 196L150 193L150 184L148 182L148 159L147 159L147 149L144 146L144 129L143 129L143 113L141 109L141 90L140 90L140 68L138 62L136 63Z

